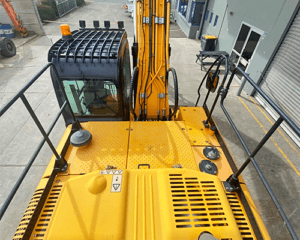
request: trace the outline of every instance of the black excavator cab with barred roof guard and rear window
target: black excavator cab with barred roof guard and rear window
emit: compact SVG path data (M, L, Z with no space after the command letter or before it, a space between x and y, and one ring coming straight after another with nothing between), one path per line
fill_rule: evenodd
M48 61L54 63L59 79L51 78L60 107L63 86L72 111L82 121L129 120L130 56L127 34L119 29L85 28L81 21L78 31L63 35L49 50ZM60 81L60 82L59 82ZM66 125L72 122L64 110Z

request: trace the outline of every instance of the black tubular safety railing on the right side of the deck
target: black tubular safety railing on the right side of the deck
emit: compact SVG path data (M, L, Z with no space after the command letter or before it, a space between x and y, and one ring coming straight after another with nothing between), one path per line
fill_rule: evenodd
M228 114L225 106L224 106L224 100L227 96L228 90L230 88L230 85L232 83L233 77L236 74L236 72L240 72L244 79L246 79L251 85L252 87L271 105L271 107L279 114L279 118L277 119L277 121L272 125L272 127L270 128L270 130L267 132L267 134L263 137L263 139L260 141L260 143L257 145L257 147L251 152L247 146L247 144L245 143L244 139L242 138L240 132L238 131L237 127L235 126L235 124L233 123L230 115ZM278 202L275 194L273 193L269 183L267 182L266 178L264 177L262 171L260 170L257 162L254 159L254 156L258 153L258 151L263 147L263 145L267 142L267 140L272 136L272 134L276 131L276 129L280 126L280 124L285 121L295 132L298 136L300 136L300 129L296 126L296 124L261 90L261 88L239 67L236 67L233 71L232 74L230 76L230 79L227 83L227 86L225 89L223 89L222 93L221 93L221 101L220 101L220 105L222 110L225 113L225 116L227 117L229 123L231 124L232 128L234 129L235 133L237 134L239 140L241 141L245 151L248 154L248 158L246 159L246 161L244 162L244 164L240 167L240 169L238 169L236 171L236 173L232 174L231 176L229 176L229 178L226 180L226 182L224 182L224 186L226 188L227 191L230 192L234 192L234 191L239 191L240 190L240 186L239 186L239 181L238 181L238 176L242 173L242 171L248 166L248 164L250 162L252 162L255 170L257 171L259 177L261 178L265 188L267 189L271 199L273 200L274 204L276 205L281 217L283 218L291 236L293 239L298 239L291 223L289 222L286 214L284 213L282 207L280 206L280 203Z

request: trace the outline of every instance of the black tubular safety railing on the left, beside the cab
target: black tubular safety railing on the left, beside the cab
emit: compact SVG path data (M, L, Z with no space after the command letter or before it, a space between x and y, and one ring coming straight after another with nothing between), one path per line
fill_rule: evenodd
M25 97L24 93L26 92L26 90L49 68L52 68L53 74L55 74L55 76L58 79L58 84L59 87L61 89L62 94L64 95L65 101L62 104L62 107L60 108L56 118L54 119L53 123L51 124L50 128L48 129L48 131L46 132L45 129L43 128L42 124L40 123L38 117L36 116L35 112L33 111L32 107L30 106L27 98ZM13 189L11 190L10 194L8 195L7 199L5 200L4 204L2 205L1 209L0 209L0 220L2 219L6 209L8 208L10 202L12 201L14 195L16 194L17 190L19 189L21 183L23 182L26 174L28 173L30 167L32 166L34 160L36 159L36 157L38 156L40 150L42 149L43 145L45 142L48 143L51 151L53 152L53 154L56 157L55 160L55 168L57 171L59 172L65 172L68 168L68 163L66 162L66 160L63 158L63 156L59 155L58 152L56 151L55 147L53 146L52 142L49 139L49 135L52 132L55 124L57 123L59 117L61 116L61 114L63 113L63 111L65 110L66 107L68 107L70 109L70 113L72 115L73 118L73 122L77 122L76 118L71 110L71 106L70 103L68 101L68 98L66 96L66 93L63 89L63 85L60 81L59 75L57 73L57 70L54 66L53 63L48 63L38 74L36 74L4 107L2 107L0 109L0 117L18 100L21 99L22 102L24 103L25 107L27 108L29 114L31 115L32 119L34 120L35 124L37 125L37 127L39 128L40 132L43 135L43 139L42 141L39 143L37 149L35 150L35 152L33 153L33 155L31 156L29 162L27 163L27 165L25 166L22 174L20 175L20 177L18 178L16 184L14 185Z

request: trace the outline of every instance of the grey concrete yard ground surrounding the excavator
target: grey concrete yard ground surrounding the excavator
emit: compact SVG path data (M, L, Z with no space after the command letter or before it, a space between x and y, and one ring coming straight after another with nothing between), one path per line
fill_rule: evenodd
M118 0L89 2L56 22L46 24L44 28L47 36L33 39L18 47L17 55L13 58L4 59L0 57L0 107L47 63L47 52L51 42L60 38L60 23L69 23L71 29L74 30L78 28L78 20L82 19L87 21L88 26L93 20L100 20L101 25L103 25L104 20L110 20L112 27L118 20L123 20L129 40L132 42L133 21L130 14L124 12L123 5L124 2ZM205 71L200 70L199 64L195 63L195 55L200 50L200 43L197 40L187 39L175 23L171 25L171 30L174 31L171 31L170 39L172 47L170 66L177 71L179 103L180 105L194 106L198 97L197 88L205 74ZM207 69L208 66L205 68ZM221 79L223 72L220 75ZM255 99L245 93L242 93L241 97L237 97L238 88L239 84L234 82L225 100L225 106L250 149L254 149L264 136L265 131L270 128L270 121L274 122L274 120L257 104ZM171 104L174 101L173 92L174 86L170 79ZM204 93L205 89L202 91L201 101L203 101ZM32 104L45 129L48 129L58 111L58 104L48 71L27 90L25 96ZM211 103L212 99L209 100L208 105L210 106ZM241 166L246 159L245 151L218 106L214 112L214 119L237 165ZM42 137L19 100L0 118L0 124L1 206ZM58 144L64 129L64 122L60 119L50 136L55 146ZM0 222L1 240L13 237L51 155L49 148L45 145ZM300 236L299 157L299 147L290 140L282 129L274 134L256 157L298 236ZM243 177L271 238L290 239L283 221L251 164L243 173Z

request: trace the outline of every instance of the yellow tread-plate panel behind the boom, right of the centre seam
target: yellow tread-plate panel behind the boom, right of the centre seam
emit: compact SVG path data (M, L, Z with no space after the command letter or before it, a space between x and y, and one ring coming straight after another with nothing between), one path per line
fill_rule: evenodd
M197 170L184 122L131 122L128 169L139 164L150 168L183 168Z

